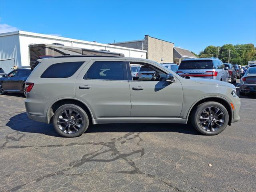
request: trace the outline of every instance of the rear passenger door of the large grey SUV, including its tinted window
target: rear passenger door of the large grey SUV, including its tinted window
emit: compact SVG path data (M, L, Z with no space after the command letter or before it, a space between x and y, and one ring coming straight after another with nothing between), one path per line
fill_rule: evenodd
M92 110L94 118L130 116L130 88L124 59L90 60L76 79L75 92L76 98Z

